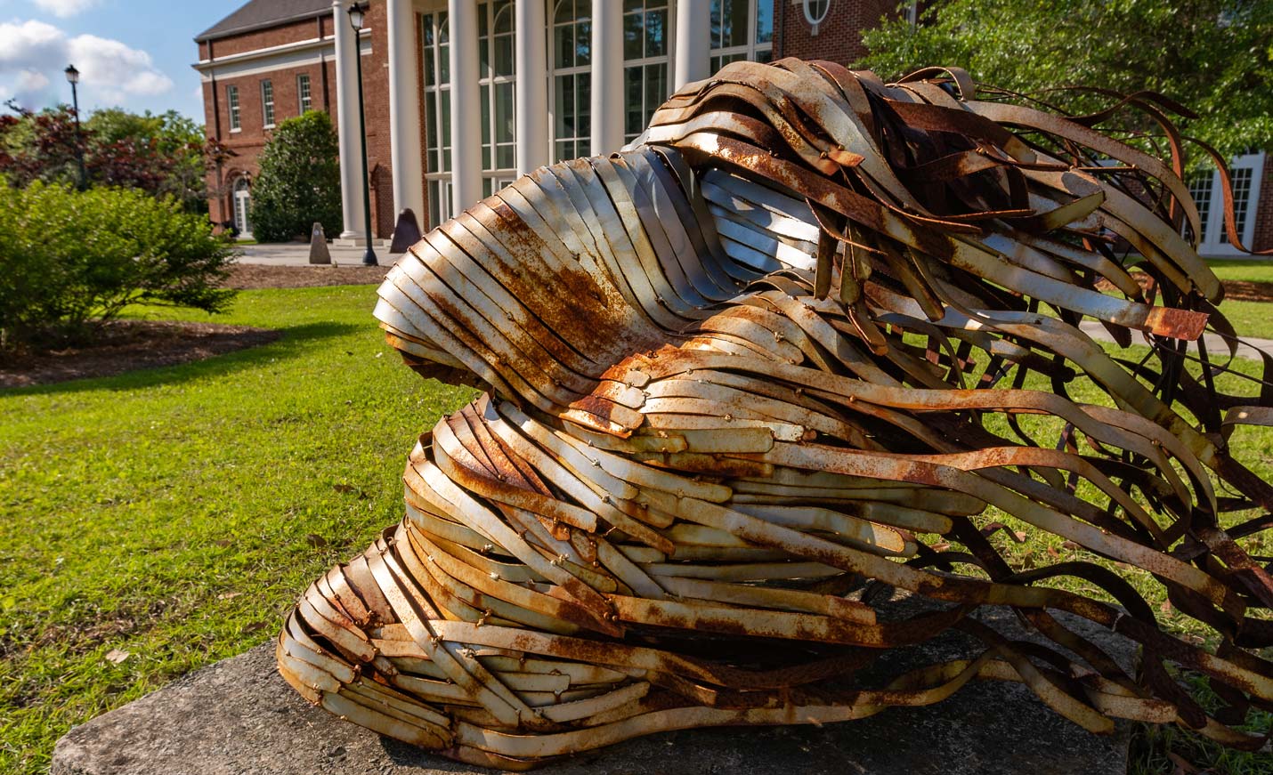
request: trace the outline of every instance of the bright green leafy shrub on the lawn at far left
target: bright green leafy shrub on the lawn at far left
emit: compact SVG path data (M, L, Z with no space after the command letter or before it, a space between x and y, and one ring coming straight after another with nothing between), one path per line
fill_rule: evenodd
M234 252L206 216L141 191L0 181L0 345L134 303L223 309Z

